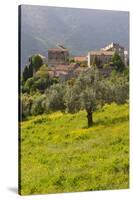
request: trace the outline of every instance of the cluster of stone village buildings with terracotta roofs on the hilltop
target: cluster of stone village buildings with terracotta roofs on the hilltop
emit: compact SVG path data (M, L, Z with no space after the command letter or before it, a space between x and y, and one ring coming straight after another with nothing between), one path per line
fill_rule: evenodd
M42 58L44 64L48 65L50 77L68 79L94 65L97 65L103 73L112 71L111 59L115 52L119 54L127 67L129 63L128 51L120 44L113 42L97 51L88 52L86 56L74 57L70 56L67 48L58 45L56 48L48 49L48 57L43 56Z

